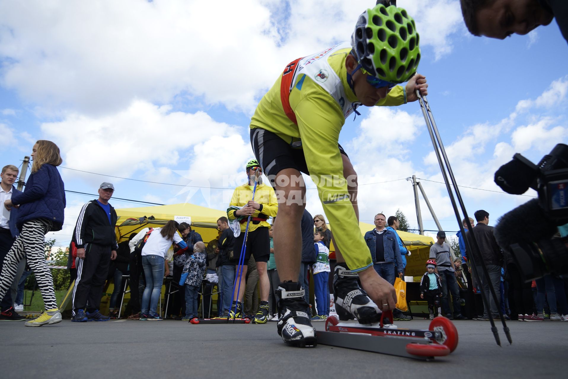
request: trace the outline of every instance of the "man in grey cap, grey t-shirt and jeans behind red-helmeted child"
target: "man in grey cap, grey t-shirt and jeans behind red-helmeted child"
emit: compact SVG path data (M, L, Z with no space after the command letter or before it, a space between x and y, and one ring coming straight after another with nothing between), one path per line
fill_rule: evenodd
M438 231L437 241L430 247L430 259L436 260L436 272L440 275L442 282L442 310L449 319L465 320L461 314L460 288L456 280L456 268L452 262L450 252L452 248L446 243L445 231ZM449 292L452 293L454 312L450 310Z

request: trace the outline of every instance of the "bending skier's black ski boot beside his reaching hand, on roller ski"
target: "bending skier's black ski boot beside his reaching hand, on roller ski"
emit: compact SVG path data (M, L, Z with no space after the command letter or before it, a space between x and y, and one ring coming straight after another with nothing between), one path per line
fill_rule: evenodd
M371 300L364 289L359 287L358 275L348 268L335 266L333 272L333 292L335 293L335 309L341 321L352 320L362 324L379 322L381 310Z

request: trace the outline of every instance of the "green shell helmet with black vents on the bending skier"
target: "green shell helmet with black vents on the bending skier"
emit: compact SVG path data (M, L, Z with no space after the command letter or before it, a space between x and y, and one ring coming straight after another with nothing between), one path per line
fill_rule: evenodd
M382 3L359 16L351 36L364 72L389 83L406 82L416 72L420 61L418 43L414 19L406 10Z

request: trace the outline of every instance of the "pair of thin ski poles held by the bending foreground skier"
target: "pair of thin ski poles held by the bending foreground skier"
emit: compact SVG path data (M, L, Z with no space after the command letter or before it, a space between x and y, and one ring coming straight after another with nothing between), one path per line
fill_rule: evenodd
M467 220L468 224L470 224L469 216L467 216L467 210L465 209L465 205L463 204L463 199L461 197L460 190L457 186L456 178L453 174L452 167L450 166L448 156L446 155L446 151L444 149L444 144L442 143L440 133L438 132L436 122L434 121L434 116L432 115L432 111L431 111L430 106L428 104L428 99L426 98L426 96L422 96L420 94L420 91L418 91L418 90L416 90L416 95L419 99L420 108L421 108L422 113L424 115L424 120L425 120L426 126L428 128L428 133L430 134L430 139L432 140L432 145L433 145L434 151L436 153L436 158L438 159L438 164L440 165L440 170L442 172L442 175L444 176L444 182L446 184L446 189L448 190L448 195L450 197L450 201L452 202L452 207L454 209L454 213L456 214L458 225L460 225L460 230L461 230L462 235L465 235L465 230L463 230L463 225L460 221L460 212L457 208L456 199L454 199L454 193L452 191L452 187L450 187L450 184L449 184L448 174L449 174L450 179L452 181L453 190L454 190L454 192L456 192L456 197L458 199L458 202L460 203L460 207L461 207L463 216ZM442 156L444 157L443 163L442 163L442 157L440 156L440 152L441 152ZM446 172L446 170L447 170L447 172ZM471 225L470 225L469 232L471 233L471 235L473 237L473 244L469 243L468 238L465 238L465 243L466 243L466 249L468 251L472 252L472 254L470 255L471 263L473 264L473 266L475 266L475 260L477 258L479 258L481 260L480 266L482 267L482 271L483 271L483 274L485 276L485 279L487 280L487 283L491 283L489 273L487 272L487 267L485 266L485 262L483 262L483 257L479 253L481 250L479 249L479 245L477 243L477 240L475 239L475 233L474 233L473 227ZM476 279L481 283L481 280L479 280L479 276L477 275L477 270L473 269L472 272L473 272L474 276L476 277ZM497 296L496 296L494 288L491 285L489 285L489 288L490 288L491 296L492 296L493 300L495 301L496 306L499 307L499 304L498 304L498 301L497 301ZM490 307L490 304L489 304L489 299L487 299L487 297L485 296L484 291L481 291L481 296L482 296L482 300L483 300L483 306L486 307L486 309L488 310L488 313L491 313L491 307ZM509 329L507 327L505 319L504 319L503 315L500 314L500 312L499 312L499 317L500 317L501 322L503 324L503 330L505 332L505 335L507 336L507 340L509 341L509 344L510 344L510 343L512 343L511 335L509 334ZM491 331L492 331L492 333L495 337L495 342L499 346L501 346L499 334L498 334L497 328L495 327L495 323L494 323L491 315L489 317L489 321L491 323Z

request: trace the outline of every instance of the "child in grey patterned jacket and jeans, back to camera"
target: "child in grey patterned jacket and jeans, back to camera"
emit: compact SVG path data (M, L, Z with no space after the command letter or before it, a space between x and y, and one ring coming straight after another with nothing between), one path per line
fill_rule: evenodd
M183 266L182 275L187 272L185 279L185 317L182 318L183 321L190 321L197 317L199 306L197 297L203 274L207 269L206 261L205 244L199 241L193 246L193 255L187 258L185 266Z

